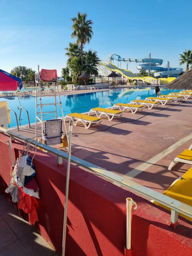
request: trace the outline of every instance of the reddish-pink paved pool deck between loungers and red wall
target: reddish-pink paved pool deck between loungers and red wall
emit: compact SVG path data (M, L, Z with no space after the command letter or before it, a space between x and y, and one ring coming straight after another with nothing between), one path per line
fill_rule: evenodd
M190 168L179 163L167 170L175 156L192 144L191 112L192 99L188 99L138 114L124 112L113 121L104 117L100 126L89 129L79 123L73 126L72 155L162 193ZM32 138L35 126L18 133ZM168 153L162 152L169 147Z

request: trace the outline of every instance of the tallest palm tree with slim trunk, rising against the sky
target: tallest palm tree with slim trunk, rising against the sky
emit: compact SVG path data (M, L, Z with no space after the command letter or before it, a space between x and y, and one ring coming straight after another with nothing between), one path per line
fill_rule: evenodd
M83 66L83 45L89 43L92 35L92 20L86 20L86 13L77 13L77 17L72 18L73 21L72 29L73 33L71 34L72 38L77 38L77 43L81 44L81 65Z

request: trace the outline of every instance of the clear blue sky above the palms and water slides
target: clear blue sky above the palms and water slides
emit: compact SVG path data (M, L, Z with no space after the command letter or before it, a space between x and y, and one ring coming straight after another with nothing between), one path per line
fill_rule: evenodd
M8 3L8 4L7 4ZM0 69L15 66L57 69L66 65L64 48L71 39L71 18L87 12L93 38L86 49L100 59L153 58L179 67L179 54L192 48L191 0L0 0ZM125 64L122 64L125 68ZM186 68L185 66L184 69ZM128 66L139 72L135 63Z

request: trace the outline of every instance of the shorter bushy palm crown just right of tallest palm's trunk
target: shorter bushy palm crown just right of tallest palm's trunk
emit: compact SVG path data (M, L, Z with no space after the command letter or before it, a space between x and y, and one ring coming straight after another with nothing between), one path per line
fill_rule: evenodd
M88 75L98 75L97 65L99 64L99 57L96 51L89 50L84 52L84 66L83 71L86 71Z

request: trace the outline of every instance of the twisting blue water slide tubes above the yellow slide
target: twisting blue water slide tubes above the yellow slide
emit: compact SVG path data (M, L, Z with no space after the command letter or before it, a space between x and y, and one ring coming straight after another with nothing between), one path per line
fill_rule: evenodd
M163 63L162 59L152 59L152 58L129 59L129 58L121 58L121 56L117 54L112 54L110 57L110 60L145 63L145 64L137 65L137 69L159 71L154 73L154 76L156 78L179 75L183 71L182 68L169 68L169 62L168 62L167 68L158 67L158 65L161 65Z

